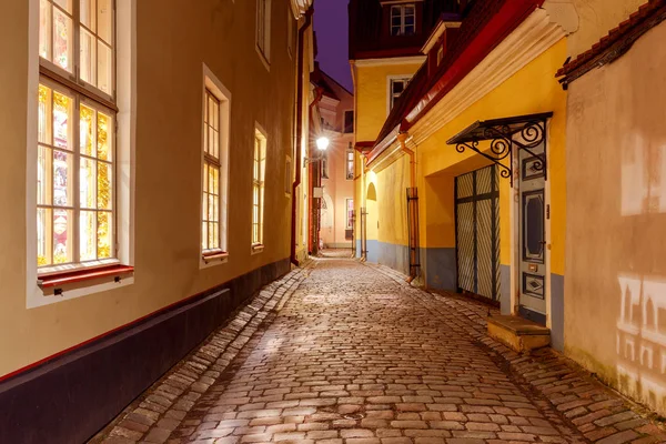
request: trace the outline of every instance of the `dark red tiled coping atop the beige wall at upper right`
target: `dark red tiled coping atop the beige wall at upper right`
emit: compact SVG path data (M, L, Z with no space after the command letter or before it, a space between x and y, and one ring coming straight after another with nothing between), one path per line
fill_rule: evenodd
M566 84L595 67L601 67L616 60L648 29L665 19L666 0L649 0L638 11L629 16L628 20L623 21L617 28L612 29L592 49L566 62L555 77L564 77L559 81Z

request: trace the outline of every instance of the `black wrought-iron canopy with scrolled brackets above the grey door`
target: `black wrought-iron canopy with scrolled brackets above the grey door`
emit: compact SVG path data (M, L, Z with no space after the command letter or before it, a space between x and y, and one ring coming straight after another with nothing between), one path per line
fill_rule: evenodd
M526 151L532 158L537 159L533 168L537 171L543 171L544 178L547 180L545 147L543 154L537 154L532 150L545 142L546 123L552 117L552 112L544 112L477 121L451 138L446 143L455 145L455 150L460 153L470 149L491 160L500 168L500 175L509 180L511 186L513 186L513 161L511 154L515 147L518 150ZM516 140L516 135L519 135L521 140ZM491 147L486 152L478 148L478 143L485 140L491 141ZM502 163L506 158L509 159L508 167Z

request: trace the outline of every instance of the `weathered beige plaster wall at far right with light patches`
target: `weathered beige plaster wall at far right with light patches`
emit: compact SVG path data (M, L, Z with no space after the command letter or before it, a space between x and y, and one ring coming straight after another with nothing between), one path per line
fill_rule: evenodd
M569 87L565 351L666 413L666 24Z

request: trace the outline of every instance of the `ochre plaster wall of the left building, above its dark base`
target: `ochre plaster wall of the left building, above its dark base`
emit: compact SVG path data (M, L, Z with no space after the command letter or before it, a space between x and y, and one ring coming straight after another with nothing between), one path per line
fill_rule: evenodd
M272 2L271 69L254 49L255 3L137 2L135 282L114 291L26 309L29 1L9 2L0 28L0 375L132 322L261 265L289 256L295 60L286 50L286 0ZM34 2L37 4L37 2ZM28 47L32 32L33 48ZM232 93L229 263L199 269L202 63ZM31 73L36 75L37 73ZM251 255L252 143L268 132L265 250Z

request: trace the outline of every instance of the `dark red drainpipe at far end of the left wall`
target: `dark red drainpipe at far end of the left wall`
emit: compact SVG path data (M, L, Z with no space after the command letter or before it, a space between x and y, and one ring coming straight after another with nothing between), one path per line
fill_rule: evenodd
M304 41L303 37L305 36L305 31L312 24L312 13L314 9L310 7L307 12L305 12L305 23L301 28L299 28L299 60L296 62L296 71L297 71L297 80L296 80L296 159L295 159L295 168L296 168L296 178L292 185L292 233L291 233L291 262L299 266L299 260L296 259L296 238L297 238L297 198L296 198L296 189L301 185L301 153L303 152L302 141L303 141L303 67L305 65L305 61L303 60L304 53Z

